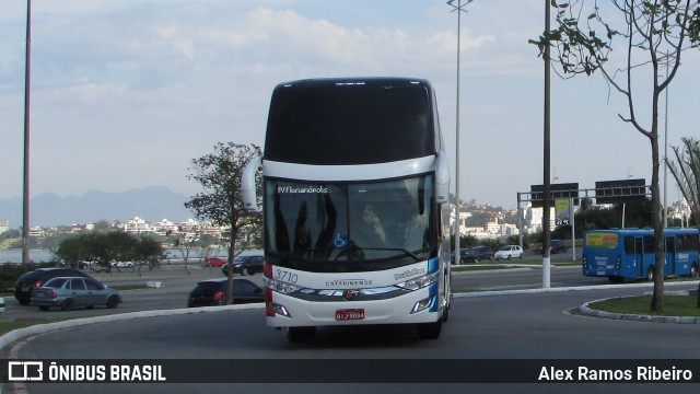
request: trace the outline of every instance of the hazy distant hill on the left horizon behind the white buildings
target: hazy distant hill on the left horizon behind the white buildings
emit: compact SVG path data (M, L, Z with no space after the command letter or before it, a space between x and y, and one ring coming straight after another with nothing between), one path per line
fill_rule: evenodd
M124 193L93 190L79 197L43 194L30 199L30 225L84 224L103 219L112 223L133 217L151 223L163 219L182 222L194 217L185 208L189 198L163 186ZM22 227L22 198L0 198L0 222L4 220L9 220L11 229Z

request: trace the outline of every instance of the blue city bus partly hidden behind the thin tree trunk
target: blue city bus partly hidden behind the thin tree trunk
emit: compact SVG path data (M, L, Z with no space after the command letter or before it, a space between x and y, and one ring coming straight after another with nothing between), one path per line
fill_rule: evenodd
M698 229L665 229L664 277L697 277ZM583 235L583 275L653 280L656 267L656 237L651 229L610 229L586 231Z

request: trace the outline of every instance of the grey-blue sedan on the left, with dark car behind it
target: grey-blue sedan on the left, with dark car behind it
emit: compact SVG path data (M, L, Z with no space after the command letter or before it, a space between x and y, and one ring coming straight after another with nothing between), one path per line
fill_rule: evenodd
M51 306L59 306L63 311L70 311L74 306L94 308L96 305L105 305L114 309L120 303L121 294L119 291L109 289L95 279L57 277L42 287L34 288L30 304L38 306L42 311L48 311Z

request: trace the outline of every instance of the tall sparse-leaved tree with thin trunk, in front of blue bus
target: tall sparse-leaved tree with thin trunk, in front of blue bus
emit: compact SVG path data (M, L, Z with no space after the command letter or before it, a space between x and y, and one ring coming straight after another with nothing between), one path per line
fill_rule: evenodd
M614 20L619 23L619 28L603 19L597 1L582 0L570 4L551 0L550 3L558 10L555 28L529 42L539 47L542 57L547 56L547 48L555 48L557 55L546 60L559 63L564 76L591 76L599 71L611 90L620 93L627 101L627 113L619 114L619 117L651 142L652 222L656 235L654 252L656 262L663 262L664 223L658 183L660 97L676 77L682 51L698 39L700 2L611 0L610 7L618 13ZM609 62L614 39L622 42L625 54L619 58L621 63ZM669 68L667 77L661 76L662 66ZM639 78L651 82L651 97L645 96L644 91L633 89L633 81L637 82ZM643 105L651 104L651 114L640 115L643 111L638 103L642 101ZM644 124L645 119L648 124ZM654 293L650 305L655 313L663 313L664 309L663 277L663 265L656 265Z

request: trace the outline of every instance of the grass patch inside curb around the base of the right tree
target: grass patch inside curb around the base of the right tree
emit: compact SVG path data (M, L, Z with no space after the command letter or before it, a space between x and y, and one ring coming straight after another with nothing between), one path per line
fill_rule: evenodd
M609 313L651 315L653 314L649 309L651 302L651 296L625 297L594 302L588 304L588 308ZM666 294L664 296L664 313L661 315L700 317L700 309L697 305L697 291L691 292L690 296Z

